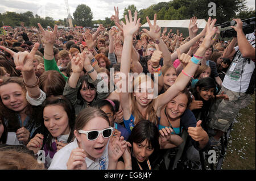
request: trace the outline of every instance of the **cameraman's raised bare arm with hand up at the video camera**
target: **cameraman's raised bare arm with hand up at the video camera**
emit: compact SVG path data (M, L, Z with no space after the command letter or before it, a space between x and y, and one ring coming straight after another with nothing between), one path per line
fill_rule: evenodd
M255 48L251 46L251 44L246 39L245 34L243 33L242 20L241 19L234 19L234 20L237 22L237 26L232 28L234 28L234 30L237 32L238 47L242 53L242 56L255 60Z

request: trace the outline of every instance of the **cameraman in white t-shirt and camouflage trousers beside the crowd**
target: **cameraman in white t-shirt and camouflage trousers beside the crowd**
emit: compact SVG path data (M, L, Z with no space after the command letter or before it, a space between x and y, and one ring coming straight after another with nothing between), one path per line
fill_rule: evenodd
M229 56L230 53L233 54L236 41L239 49L234 54L219 93L224 91L229 100L223 99L216 102L210 111L209 127L216 133L214 137L210 137L212 146L220 144L220 137L228 130L238 112L250 104L251 94L254 94L255 37L253 40L247 40L242 30L243 22L241 19L234 20L237 22L237 26L232 28L237 32L237 37L233 38L223 58L228 58L226 56Z

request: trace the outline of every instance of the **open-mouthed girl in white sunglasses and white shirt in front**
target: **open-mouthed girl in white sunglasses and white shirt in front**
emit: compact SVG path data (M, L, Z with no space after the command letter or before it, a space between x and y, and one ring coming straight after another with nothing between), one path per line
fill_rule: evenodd
M75 140L59 150L49 169L112 170L128 146L121 133L114 133L108 116L100 109L82 110L74 127Z

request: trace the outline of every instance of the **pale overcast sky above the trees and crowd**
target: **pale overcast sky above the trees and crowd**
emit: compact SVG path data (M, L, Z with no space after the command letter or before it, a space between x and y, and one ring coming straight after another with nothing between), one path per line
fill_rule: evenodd
M69 0L68 4L72 16L78 5L88 5L93 12L93 20L97 20L105 19L105 17L110 18L114 14L114 6L118 6L119 18L122 18L123 10L129 5L135 5L137 10L141 10L156 3L168 1L170 0ZM247 0L246 2L247 6L255 9L254 0ZM67 18L65 0L1 0L0 12L6 11L17 13L32 11L34 15L38 14L41 17L50 16L54 20Z

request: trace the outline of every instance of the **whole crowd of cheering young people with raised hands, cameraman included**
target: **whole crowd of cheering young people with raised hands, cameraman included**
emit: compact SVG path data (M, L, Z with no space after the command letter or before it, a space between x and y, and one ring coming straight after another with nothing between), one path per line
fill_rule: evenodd
M254 93L255 32L234 19L223 41L216 19L199 32L193 17L184 37L114 11L109 31L38 23L0 37L0 169L147 170L184 142L188 158L220 145Z

